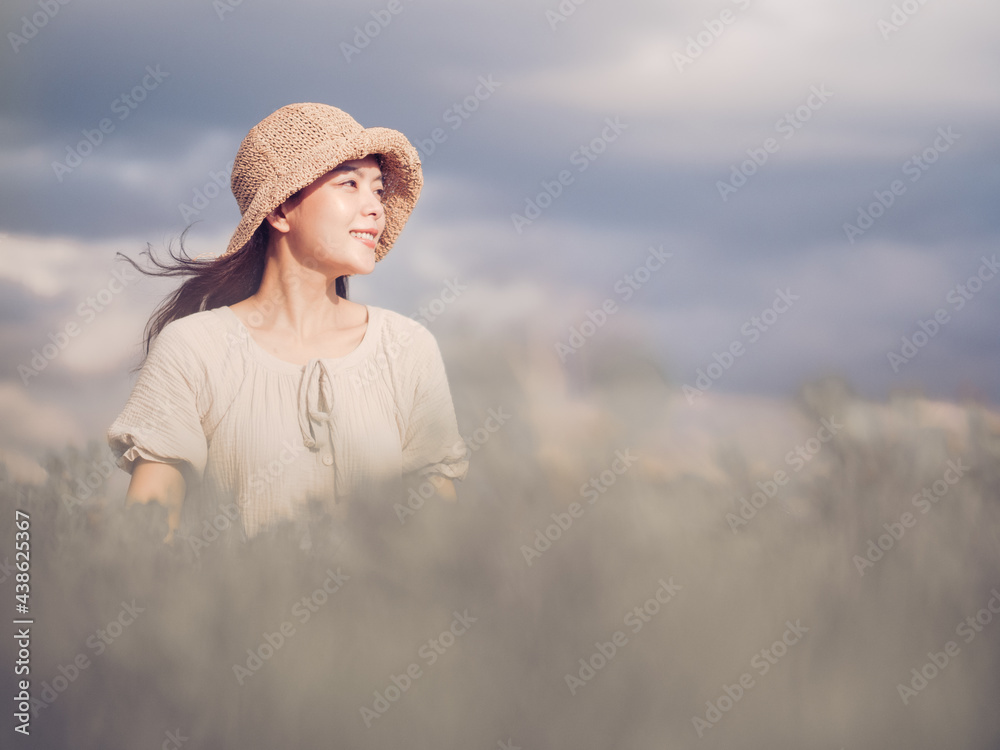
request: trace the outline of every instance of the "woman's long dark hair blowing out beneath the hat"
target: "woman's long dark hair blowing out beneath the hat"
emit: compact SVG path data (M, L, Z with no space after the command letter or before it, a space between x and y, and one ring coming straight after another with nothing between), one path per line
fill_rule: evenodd
M133 373L142 369L153 341L164 327L180 318L192 315L202 310L214 310L225 305L234 305L256 294L264 278L264 262L267 258L268 223L261 222L250 239L235 253L221 258L196 260L184 249L184 238L187 236L188 225L181 232L180 252L174 254L173 243L167 245L167 254L173 259L157 260L152 253L152 245L147 244L142 254L159 270L141 268L134 260L124 253L117 253L132 266L146 276L189 276L159 307L153 311L143 334L145 348L142 360L132 370ZM347 299L347 277L337 277L337 296Z

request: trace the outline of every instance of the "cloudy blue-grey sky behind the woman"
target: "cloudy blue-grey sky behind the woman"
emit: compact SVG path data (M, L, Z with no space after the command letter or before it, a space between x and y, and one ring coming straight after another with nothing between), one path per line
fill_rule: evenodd
M998 22L986 0L6 2L5 456L103 437L171 289L115 253L195 220L190 252L220 252L228 163L299 101L420 149L417 210L351 291L411 314L467 284L428 322L446 354L459 319L555 352L611 300L593 338L678 386L995 403Z

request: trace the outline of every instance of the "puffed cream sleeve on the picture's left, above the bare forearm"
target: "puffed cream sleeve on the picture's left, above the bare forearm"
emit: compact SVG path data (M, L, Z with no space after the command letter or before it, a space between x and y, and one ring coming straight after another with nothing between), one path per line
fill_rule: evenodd
M129 474L145 458L186 464L181 470L201 481L208 460L205 367L178 322L153 341L125 408L108 428L108 445Z

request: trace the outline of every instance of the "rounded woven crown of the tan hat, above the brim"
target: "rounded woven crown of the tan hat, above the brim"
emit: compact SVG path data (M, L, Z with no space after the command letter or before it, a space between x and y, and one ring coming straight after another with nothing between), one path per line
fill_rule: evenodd
M344 141L363 131L349 114L329 104L289 104L247 133L236 152L230 187L245 214L261 187L294 171L318 144Z

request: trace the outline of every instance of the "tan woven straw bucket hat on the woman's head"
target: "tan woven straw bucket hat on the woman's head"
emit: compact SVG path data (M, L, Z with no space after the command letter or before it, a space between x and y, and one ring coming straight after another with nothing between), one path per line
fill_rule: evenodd
M375 260L382 260L420 195L420 156L402 133L363 128L327 104L289 104L247 133L230 181L243 218L219 257L243 247L264 218L292 193L338 164L368 154L378 154L382 161L385 230L375 246Z

